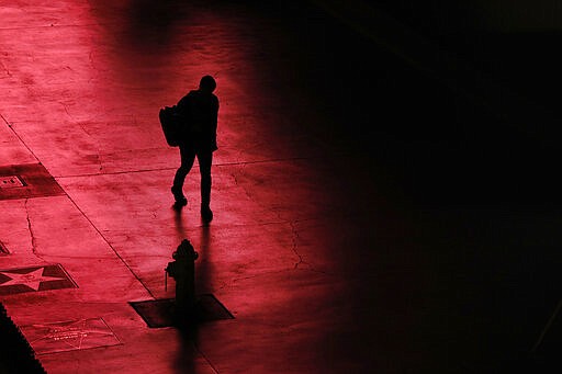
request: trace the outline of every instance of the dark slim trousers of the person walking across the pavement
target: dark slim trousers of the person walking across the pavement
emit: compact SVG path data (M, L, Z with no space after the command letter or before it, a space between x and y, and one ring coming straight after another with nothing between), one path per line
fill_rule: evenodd
M183 182L191 171L195 157L199 161L199 171L201 173L201 205L209 206L211 203L211 165L213 163L213 152L210 150L196 150L193 147L180 146L181 166L176 171L173 178L172 191L176 199L182 196Z

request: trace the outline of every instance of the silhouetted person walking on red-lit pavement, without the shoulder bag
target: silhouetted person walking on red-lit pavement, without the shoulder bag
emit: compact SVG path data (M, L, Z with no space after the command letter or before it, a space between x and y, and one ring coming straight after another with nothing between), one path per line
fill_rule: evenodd
M201 216L213 219L211 211L211 165L216 146L216 121L218 99L213 94L216 82L211 76L201 78L198 90L190 91L178 102L178 111L183 118L183 134L179 144L181 166L173 178L171 192L176 206L188 204L183 195L183 181L193 167L195 156L201 172Z

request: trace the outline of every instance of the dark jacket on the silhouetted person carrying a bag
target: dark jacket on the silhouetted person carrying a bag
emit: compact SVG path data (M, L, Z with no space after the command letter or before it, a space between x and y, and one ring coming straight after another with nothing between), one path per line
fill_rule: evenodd
M184 118L183 146L196 150L215 151L218 99L202 90L190 91L178 102L178 111Z

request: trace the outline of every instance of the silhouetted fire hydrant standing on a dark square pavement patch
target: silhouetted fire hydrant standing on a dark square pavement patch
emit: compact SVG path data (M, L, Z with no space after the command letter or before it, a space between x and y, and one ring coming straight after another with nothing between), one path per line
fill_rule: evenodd
M195 260L199 253L183 239L165 271L176 281L176 317L181 320L193 314L195 306Z

